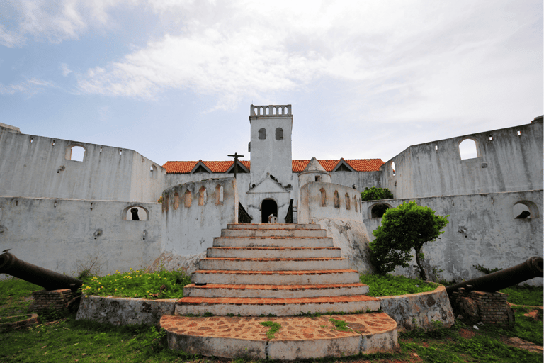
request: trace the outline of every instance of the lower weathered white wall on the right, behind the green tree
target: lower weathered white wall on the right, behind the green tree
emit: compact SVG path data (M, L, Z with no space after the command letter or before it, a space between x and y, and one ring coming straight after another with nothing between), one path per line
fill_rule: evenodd
M382 218L370 218L375 203L386 203L393 208L404 201L416 201L429 206L441 216L449 215L449 223L439 240L424 245L424 266L431 277L432 267L444 271L439 274L448 281L460 281L482 276L473 265L489 269L511 267L525 262L528 257L543 257L543 191L514 191L436 198L388 199L363 201L365 223L371 240L373 230ZM534 203L533 217L514 219L514 204L519 201ZM415 265L415 259L413 259ZM414 267L396 269L396 274L416 277ZM531 280L542 285L542 279Z

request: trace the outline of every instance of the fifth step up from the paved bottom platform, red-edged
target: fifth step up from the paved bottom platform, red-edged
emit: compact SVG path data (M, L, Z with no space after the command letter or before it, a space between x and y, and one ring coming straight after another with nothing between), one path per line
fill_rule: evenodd
M221 258L320 258L341 257L337 247L210 247L207 257Z

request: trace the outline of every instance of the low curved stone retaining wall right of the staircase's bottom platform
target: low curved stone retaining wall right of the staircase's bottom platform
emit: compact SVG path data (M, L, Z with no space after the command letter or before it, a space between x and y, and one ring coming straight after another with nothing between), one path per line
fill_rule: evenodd
M382 296L380 306L399 325L399 331L405 332L416 328L433 328L433 321L444 326L453 325L455 317L444 286L436 290L402 296Z

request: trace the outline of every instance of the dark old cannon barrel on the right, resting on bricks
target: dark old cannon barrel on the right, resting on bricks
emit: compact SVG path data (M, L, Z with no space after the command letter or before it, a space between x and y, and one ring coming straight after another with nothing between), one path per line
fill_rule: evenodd
M459 288L464 287L466 289L469 286L470 290L495 292L528 279L533 279L534 277L543 277L542 257L529 257L526 262L514 267L448 286L446 287L446 291L448 292L448 296L451 296Z

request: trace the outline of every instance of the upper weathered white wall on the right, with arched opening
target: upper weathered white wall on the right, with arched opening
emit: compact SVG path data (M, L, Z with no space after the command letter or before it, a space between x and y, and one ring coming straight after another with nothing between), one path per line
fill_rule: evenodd
M461 160L458 145L465 138L477 142L479 157ZM410 146L382 165L381 184L399 199L538 190L544 186L543 163L543 121L538 118L527 125Z

